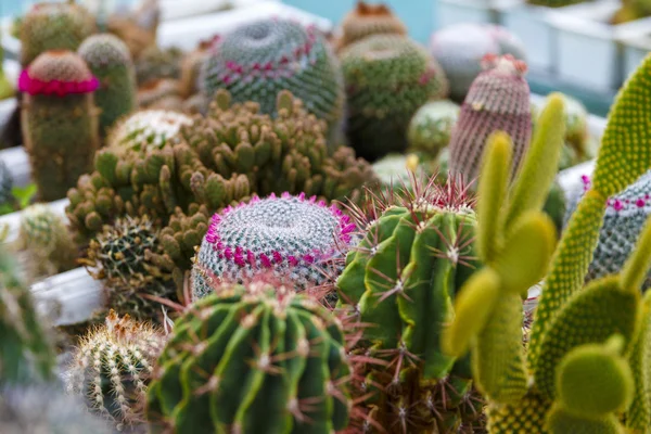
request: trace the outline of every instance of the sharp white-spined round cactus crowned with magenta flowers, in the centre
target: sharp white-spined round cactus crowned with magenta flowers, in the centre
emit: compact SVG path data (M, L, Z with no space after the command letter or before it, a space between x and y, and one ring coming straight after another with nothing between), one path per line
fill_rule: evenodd
M348 216L316 196L253 196L213 216L193 267L193 295L208 294L212 280L241 283L265 269L301 289L321 285L341 272L355 230Z

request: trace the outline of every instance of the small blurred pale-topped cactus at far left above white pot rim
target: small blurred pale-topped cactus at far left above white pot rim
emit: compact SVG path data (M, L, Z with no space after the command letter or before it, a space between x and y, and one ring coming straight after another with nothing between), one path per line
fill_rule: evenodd
M50 276L75 268L77 246L63 218L46 204L21 213L21 246L29 255L33 276Z

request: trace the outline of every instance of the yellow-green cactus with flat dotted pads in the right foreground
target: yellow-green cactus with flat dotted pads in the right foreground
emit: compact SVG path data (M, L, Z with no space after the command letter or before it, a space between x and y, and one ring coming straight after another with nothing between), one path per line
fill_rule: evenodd
M562 136L545 146L532 146L529 154L535 162L529 165L527 155L522 171L522 184L528 189L522 189L525 194L515 194L511 201L520 203L511 206L519 210L516 219L509 218L514 213L507 213L506 218L496 213L507 184L496 181L508 177L503 168L508 146L499 140L488 146L480 182L485 194L484 199L480 196L480 205L483 202L486 213L480 214L484 219L480 219L478 231L493 263L461 290L457 315L443 342L449 355L472 352L473 378L489 401L492 433L650 429L647 376L651 297L649 293L642 297L640 289L651 267L651 224L642 229L637 247L618 273L584 286L609 197L651 168L644 127L651 108L641 103L651 94L650 74L648 56L620 91L590 187L573 213L550 265L547 248L540 246L542 238L550 238L545 235L551 232L550 225L545 225L547 229L541 221L534 225L534 205L542 202L541 190L556 171L544 154L548 158L552 152L560 154ZM553 130L556 136L563 132L563 128ZM545 169L538 164L542 161L549 164ZM536 166L538 171L547 173L544 180L531 174ZM524 176L527 173L528 177ZM505 242L500 230L512 241ZM529 232L527 237L525 231ZM522 336L516 324L522 310L515 307L538 277L545 283L525 353L522 345L514 344Z

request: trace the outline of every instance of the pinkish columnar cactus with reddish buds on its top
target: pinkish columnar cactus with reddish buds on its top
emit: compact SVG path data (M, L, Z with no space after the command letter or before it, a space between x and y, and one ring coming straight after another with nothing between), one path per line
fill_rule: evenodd
M450 137L449 171L474 181L480 171L486 139L497 130L513 140L514 176L526 153L532 133L526 65L512 56L484 59L485 71L473 81Z

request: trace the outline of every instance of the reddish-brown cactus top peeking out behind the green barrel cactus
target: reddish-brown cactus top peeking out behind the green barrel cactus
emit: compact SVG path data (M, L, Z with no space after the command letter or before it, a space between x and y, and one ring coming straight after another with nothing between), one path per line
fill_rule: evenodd
M337 51L371 35L407 35L405 24L386 4L369 4L362 0L358 0L355 9L344 16L341 28Z

